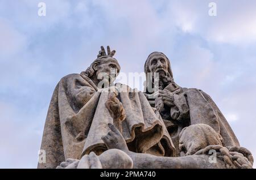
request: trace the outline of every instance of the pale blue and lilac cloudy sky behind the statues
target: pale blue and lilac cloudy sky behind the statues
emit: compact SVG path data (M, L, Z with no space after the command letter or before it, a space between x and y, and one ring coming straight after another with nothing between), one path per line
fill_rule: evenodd
M101 45L117 50L125 74L143 72L153 51L166 54L175 82L207 92L256 157L255 8L253 0L0 0L0 168L36 168L55 85L85 70Z

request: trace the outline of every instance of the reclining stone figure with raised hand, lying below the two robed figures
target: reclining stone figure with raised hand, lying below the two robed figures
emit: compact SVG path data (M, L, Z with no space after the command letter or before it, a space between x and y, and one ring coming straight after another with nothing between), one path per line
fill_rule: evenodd
M253 157L242 147L223 147L222 137L205 124L191 125L180 133L181 157L158 157L129 151L116 127L102 139L109 148L100 156L93 152L79 160L69 160L57 168L252 168ZM120 152L125 152L121 153ZM213 155L209 151L214 152ZM215 157L214 157L215 156ZM213 160L211 159L213 157Z

